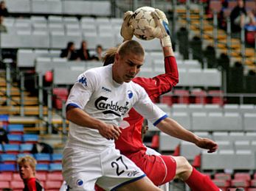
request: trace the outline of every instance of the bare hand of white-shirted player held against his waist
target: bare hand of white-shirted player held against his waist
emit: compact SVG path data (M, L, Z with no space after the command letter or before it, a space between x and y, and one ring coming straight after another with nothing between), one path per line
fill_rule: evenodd
M118 140L121 130L118 126L114 126L111 124L104 124L99 129L99 133L105 137L107 140Z

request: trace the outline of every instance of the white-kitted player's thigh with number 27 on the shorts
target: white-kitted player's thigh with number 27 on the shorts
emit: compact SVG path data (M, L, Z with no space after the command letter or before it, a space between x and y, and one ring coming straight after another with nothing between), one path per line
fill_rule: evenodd
M160 190L134 162L115 148L103 151L103 176L96 184L105 190Z

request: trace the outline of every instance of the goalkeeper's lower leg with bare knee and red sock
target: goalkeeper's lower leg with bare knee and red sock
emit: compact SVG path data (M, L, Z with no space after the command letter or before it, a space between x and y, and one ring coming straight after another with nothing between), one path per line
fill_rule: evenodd
M212 180L192 167L184 156L171 156L176 160L176 177L196 191L219 191Z

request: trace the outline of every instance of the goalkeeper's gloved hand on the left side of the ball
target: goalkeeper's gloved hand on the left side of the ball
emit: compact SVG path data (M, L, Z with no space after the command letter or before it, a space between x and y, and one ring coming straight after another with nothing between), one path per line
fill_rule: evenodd
M132 11L127 11L123 15L123 22L122 22L122 27L120 34L124 38L124 40L131 40L134 36L134 27L131 26L131 16L133 15L134 12Z

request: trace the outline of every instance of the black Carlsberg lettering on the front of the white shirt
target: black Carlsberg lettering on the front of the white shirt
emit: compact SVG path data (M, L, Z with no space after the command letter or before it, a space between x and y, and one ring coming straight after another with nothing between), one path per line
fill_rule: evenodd
M103 110L103 114L114 114L121 117L129 110L128 104L129 102L126 101L124 106L120 106L118 101L114 103L114 101L108 101L108 98L100 96L95 101L94 106L99 110Z

